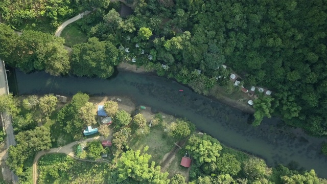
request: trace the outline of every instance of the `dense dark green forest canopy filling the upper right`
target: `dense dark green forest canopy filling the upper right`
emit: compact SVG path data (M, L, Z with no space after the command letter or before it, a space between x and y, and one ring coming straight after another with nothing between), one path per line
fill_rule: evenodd
M161 37L153 41L158 60L208 77L225 63L246 87L271 89L271 111L287 123L327 134L325 1L163 2L169 1L139 1L129 17Z

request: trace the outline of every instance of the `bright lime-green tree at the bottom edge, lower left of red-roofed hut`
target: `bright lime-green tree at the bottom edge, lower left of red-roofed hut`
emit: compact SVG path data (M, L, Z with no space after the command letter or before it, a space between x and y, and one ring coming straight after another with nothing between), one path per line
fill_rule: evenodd
M144 152L149 147L144 148ZM160 166L155 167L155 163L149 164L151 155L141 154L141 151L128 150L122 154L116 165L118 181L132 178L135 181L147 183L169 183L168 172L161 173Z

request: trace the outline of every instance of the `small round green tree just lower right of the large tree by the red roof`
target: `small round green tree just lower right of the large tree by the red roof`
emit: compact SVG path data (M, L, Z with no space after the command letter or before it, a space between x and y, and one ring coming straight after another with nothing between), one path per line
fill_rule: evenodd
M237 175L241 171L241 163L232 154L223 154L217 160L217 169L221 174Z

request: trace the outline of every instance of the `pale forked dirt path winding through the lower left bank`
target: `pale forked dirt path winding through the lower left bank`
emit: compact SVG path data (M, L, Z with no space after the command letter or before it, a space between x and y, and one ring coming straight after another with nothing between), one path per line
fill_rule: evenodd
M78 160L82 160L82 161L85 161L85 162L106 162L106 163L109 163L107 160L104 160L104 159L99 159L99 160L86 160L86 159L80 159L80 158L77 158L75 155L74 155L74 152L73 152L73 146L76 145L76 144L79 144L79 143L83 143L83 142L91 142L91 141L94 141L94 140L99 140L99 141L102 141L104 140L103 136L96 136L96 137L92 137L92 138L89 138L89 139L86 139L86 140L81 140L81 141L75 141L73 143L69 143L67 144L66 146L62 146L62 147L59 147L59 148L52 148L50 150L46 150L46 151L40 151L37 153L37 155L35 156L34 158L34 161L33 161L33 183L36 184L37 182L37 162L38 160L40 159L41 156L43 156L44 154L49 154L49 153L65 153L75 159L78 159Z

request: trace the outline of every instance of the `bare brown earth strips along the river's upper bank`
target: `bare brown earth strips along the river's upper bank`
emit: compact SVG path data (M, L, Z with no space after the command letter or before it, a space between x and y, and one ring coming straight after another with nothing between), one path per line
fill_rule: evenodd
M117 69L119 71L124 71L124 72L134 72L138 74L149 74L149 75L157 76L154 72L147 72L144 66L136 66L135 64L130 64L128 62L121 62L117 66ZM227 94L223 87L216 84L213 87L213 89L209 91L209 96L207 97L212 98L213 100L217 100L220 103L226 104L232 108L236 108L243 112L253 114L254 113L253 107L249 106L246 103L248 96L246 94L238 93L238 92L239 91L236 91L236 93Z

